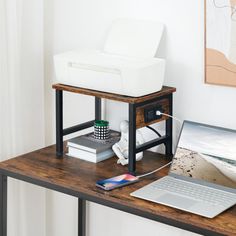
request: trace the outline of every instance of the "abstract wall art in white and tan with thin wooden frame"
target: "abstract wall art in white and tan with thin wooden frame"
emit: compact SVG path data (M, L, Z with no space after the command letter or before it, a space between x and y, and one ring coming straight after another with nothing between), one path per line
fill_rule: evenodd
M236 86L236 0L205 0L205 82Z

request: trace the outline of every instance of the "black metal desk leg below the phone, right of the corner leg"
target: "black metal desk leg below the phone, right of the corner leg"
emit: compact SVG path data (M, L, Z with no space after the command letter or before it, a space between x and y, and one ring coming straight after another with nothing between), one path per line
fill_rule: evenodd
M78 199L78 236L86 235L86 200Z

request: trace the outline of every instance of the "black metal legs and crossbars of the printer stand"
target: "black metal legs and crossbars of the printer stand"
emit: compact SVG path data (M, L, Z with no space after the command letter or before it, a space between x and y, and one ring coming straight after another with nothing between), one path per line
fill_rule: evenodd
M138 107L148 105L152 102L158 102L166 98L169 103L169 115L173 113L173 94L149 99L140 103L129 103L129 173L135 174L136 154L165 144L165 154L172 157L172 119L166 120L165 135L136 147L136 110ZM101 119L101 98L95 97L95 120ZM157 120L158 122L158 120ZM63 157L63 136L92 127L94 120L63 129L63 90L56 89L56 154L57 157Z

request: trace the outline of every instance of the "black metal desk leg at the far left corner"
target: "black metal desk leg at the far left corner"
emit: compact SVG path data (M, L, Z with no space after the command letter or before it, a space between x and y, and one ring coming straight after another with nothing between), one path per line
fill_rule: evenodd
M0 175L0 235L7 236L7 176Z

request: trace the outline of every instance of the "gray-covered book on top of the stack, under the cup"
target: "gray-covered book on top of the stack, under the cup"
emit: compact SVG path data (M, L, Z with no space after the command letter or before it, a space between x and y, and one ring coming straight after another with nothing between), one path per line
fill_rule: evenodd
M100 153L111 149L112 145L119 140L120 133L114 130L110 130L110 138L108 140L95 139L92 132L68 140L67 146L91 153Z

